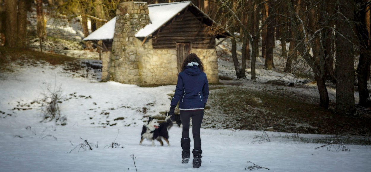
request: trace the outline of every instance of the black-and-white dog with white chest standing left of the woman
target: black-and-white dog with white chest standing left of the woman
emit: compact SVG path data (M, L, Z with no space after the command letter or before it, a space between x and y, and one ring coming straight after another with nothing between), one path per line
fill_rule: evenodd
M173 126L173 122L168 114L166 114L165 120L165 122L159 124L156 119L149 117L149 120L143 125L139 145L142 145L143 140L146 138L152 141L152 146L155 146L155 140L159 141L161 146L163 146L164 142L161 140L163 138L167 146L170 146L168 129Z

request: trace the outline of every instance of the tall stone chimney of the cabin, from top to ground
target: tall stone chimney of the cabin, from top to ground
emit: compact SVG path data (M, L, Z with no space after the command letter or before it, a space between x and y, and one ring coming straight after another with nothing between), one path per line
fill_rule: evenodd
M129 1L118 5L115 34L109 67L109 80L138 84L141 82L137 49L141 40L134 35L150 23L146 2Z

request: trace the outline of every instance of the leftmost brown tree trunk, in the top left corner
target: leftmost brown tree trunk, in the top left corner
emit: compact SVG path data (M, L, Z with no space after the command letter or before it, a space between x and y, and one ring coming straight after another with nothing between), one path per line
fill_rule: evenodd
M4 0L5 7L5 45L17 47L17 0Z

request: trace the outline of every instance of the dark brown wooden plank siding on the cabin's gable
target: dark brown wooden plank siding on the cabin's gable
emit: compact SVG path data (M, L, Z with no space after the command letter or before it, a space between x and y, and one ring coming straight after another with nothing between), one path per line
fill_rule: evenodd
M196 18L191 11L185 14L184 11L161 27L158 34L157 31L152 34L152 47L176 49L177 42L190 42L193 49L215 49L214 31L205 23L200 25L201 18Z

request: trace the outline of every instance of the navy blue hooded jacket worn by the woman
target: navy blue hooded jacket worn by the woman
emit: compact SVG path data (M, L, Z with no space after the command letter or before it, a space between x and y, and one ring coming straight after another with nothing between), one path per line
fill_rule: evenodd
M198 66L187 66L178 74L178 83L170 106L179 109L204 108L209 96L209 82L206 73Z

